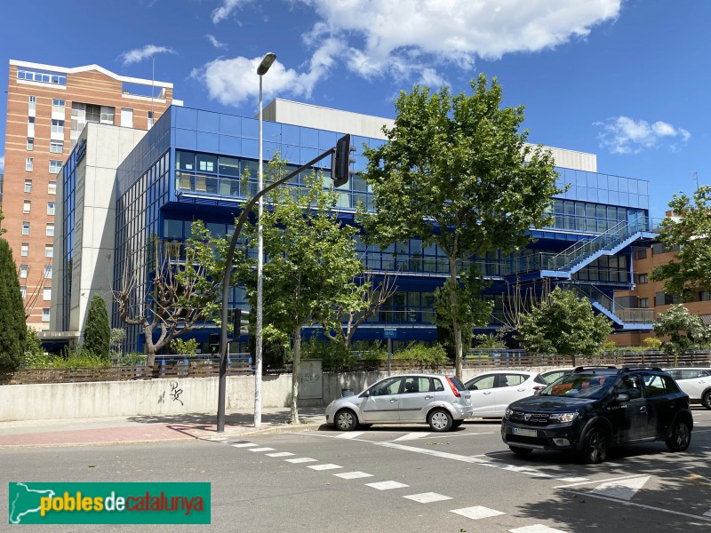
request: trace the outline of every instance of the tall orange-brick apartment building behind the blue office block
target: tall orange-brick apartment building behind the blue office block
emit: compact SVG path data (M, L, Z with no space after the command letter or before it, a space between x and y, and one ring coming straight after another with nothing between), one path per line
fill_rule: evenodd
M98 65L64 68L10 60L3 227L28 325L49 328L53 240L55 226L63 223L54 217L58 174L84 126L148 131L172 103L170 83L118 76Z

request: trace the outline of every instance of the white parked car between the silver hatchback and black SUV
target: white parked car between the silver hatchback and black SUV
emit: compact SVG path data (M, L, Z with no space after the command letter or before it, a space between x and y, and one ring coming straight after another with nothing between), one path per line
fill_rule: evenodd
M538 372L526 370L491 370L464 384L472 394L473 417L501 418L508 404L546 388Z

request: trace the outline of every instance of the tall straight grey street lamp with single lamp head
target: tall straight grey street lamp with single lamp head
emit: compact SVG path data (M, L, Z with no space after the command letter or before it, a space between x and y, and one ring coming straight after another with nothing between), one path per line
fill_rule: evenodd
M262 150L264 148L263 135L262 135L262 100L261 100L261 78L267 71L272 63L276 60L276 54L268 52L264 58L262 58L260 66L257 68L257 75L260 76L260 170L259 178L257 180L257 190L261 191L264 188L264 170L263 170L263 156ZM256 346L254 349L254 427L259 428L261 426L261 364L262 364L262 309L263 309L263 298L262 298L262 271L264 270L264 241L262 235L262 224L261 217L262 211L264 211L264 197L260 196L260 207L258 212L258 228L257 228L257 326L255 331Z

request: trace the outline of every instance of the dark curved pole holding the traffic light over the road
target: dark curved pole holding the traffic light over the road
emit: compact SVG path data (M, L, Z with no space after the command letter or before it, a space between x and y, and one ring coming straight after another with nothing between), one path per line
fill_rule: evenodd
M350 148L350 147L348 147ZM232 240L229 242L228 256L225 258L225 273L222 275L222 307L221 307L221 330L220 330L220 381L218 385L218 396L217 396L217 431L222 433L225 431L225 398L227 394L227 374L228 374L228 298L229 298L229 280L232 274L232 261L235 258L235 249L237 246L237 241L239 240L239 235L242 232L242 227L244 222L250 216L252 212L252 207L259 202L260 198L266 195L269 191L286 183L294 176L297 176L300 172L307 170L309 167L318 163L322 159L325 159L329 155L336 154L336 148L333 147L327 150L323 154L312 159L308 163L300 166L297 170L284 176L284 178L277 179L275 182L270 183L267 187L264 187L256 195L252 196L249 202L244 204L244 209L240 214L239 219L235 225L235 233L232 234ZM342 184L341 184L342 185Z

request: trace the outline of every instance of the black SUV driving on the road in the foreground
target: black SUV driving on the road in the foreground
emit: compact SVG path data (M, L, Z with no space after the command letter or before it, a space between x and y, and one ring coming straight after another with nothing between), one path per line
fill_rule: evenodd
M513 402L501 420L501 438L516 455L534 449L573 450L602 463L611 446L664 441L689 448L689 396L658 368L579 367Z

